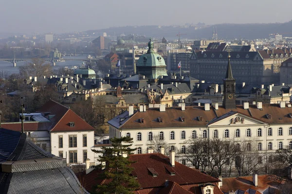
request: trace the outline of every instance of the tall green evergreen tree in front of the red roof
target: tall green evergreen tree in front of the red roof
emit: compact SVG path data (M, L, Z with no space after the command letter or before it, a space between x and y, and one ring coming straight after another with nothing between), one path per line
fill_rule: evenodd
M139 188L139 183L131 176L133 168L130 167L132 161L128 160L128 155L136 149L132 146L133 138L121 137L111 138L112 147L102 147L101 151L92 150L100 153L99 162L106 162L106 169L101 178L107 179L108 183L97 185L97 194L132 194ZM127 154L127 157L124 157Z

